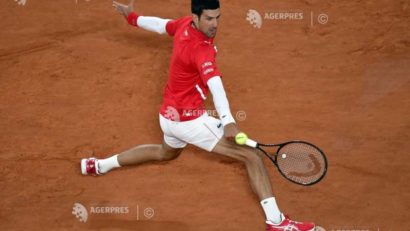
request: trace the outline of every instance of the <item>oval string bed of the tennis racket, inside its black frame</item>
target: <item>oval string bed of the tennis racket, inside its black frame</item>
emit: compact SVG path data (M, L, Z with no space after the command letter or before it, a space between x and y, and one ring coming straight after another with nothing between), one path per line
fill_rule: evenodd
M282 146L276 161L286 178L301 184L316 182L326 172L326 159L322 152L307 143L293 142Z

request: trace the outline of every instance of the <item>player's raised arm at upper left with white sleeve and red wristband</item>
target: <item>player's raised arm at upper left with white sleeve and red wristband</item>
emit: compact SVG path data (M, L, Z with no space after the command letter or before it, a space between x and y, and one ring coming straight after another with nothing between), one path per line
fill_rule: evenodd
M134 12L134 0L131 0L128 5L113 1L112 5L122 16L125 17L130 25L158 34L165 34L167 32L166 25L170 21L169 19L139 16Z

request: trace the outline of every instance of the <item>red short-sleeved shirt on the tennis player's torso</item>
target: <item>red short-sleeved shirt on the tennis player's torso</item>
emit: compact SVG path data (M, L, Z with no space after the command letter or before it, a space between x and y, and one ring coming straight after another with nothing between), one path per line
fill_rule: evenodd
M207 82L221 76L215 64L213 38L192 26L192 16L169 21L167 33L174 36L174 48L161 115L173 121L188 121L205 113Z

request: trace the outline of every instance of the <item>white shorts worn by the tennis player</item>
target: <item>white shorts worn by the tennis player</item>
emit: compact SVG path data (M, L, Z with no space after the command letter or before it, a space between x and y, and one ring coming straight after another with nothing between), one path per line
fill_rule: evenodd
M187 144L192 144L210 152L224 134L221 121L206 113L184 122L168 120L160 114L159 122L164 132L165 143L173 148L183 148Z

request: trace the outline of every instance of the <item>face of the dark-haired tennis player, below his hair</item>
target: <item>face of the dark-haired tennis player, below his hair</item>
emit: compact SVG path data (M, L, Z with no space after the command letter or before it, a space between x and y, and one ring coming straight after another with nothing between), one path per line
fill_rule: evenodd
M195 25L198 30L202 31L202 33L206 34L209 38L213 38L216 35L220 17L220 9L203 10L199 19L197 16L194 17L194 22L196 21Z

